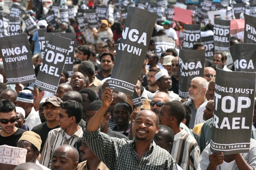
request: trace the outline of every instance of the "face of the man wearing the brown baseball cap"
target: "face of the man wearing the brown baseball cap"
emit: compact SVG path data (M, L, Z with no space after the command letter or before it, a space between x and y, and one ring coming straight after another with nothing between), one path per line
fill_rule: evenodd
M44 116L47 121L56 121L58 117L60 107L54 106L53 104L47 102L44 105Z

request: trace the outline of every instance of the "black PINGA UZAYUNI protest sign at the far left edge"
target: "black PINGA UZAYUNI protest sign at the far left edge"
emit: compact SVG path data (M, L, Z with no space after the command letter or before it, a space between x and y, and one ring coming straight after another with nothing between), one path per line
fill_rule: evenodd
M26 33L1 37L0 49L8 84L36 80Z

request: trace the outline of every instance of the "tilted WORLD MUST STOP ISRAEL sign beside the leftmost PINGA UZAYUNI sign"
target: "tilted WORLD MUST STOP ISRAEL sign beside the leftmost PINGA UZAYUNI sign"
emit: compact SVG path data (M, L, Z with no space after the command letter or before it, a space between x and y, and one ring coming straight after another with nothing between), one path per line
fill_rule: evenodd
M71 39L51 34L36 77L37 88L56 93L70 43Z

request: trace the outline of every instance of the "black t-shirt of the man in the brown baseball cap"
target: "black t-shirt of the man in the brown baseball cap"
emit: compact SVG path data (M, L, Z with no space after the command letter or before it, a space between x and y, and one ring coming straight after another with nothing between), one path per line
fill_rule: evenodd
M37 133L42 140L42 144L41 144L41 149L40 149L40 153L42 153L43 148L44 148L44 143L46 141L47 135L48 133L52 130L52 129L56 129L59 128L60 126L56 126L54 128L49 128L46 124L46 122L40 124L40 125L36 125L35 127L33 127L33 129L31 131L33 131L34 133Z

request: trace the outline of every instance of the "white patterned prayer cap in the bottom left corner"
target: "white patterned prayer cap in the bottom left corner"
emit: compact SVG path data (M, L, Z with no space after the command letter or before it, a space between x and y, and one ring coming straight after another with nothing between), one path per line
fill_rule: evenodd
M0 146L0 163L19 165L26 162L27 150L24 148Z

